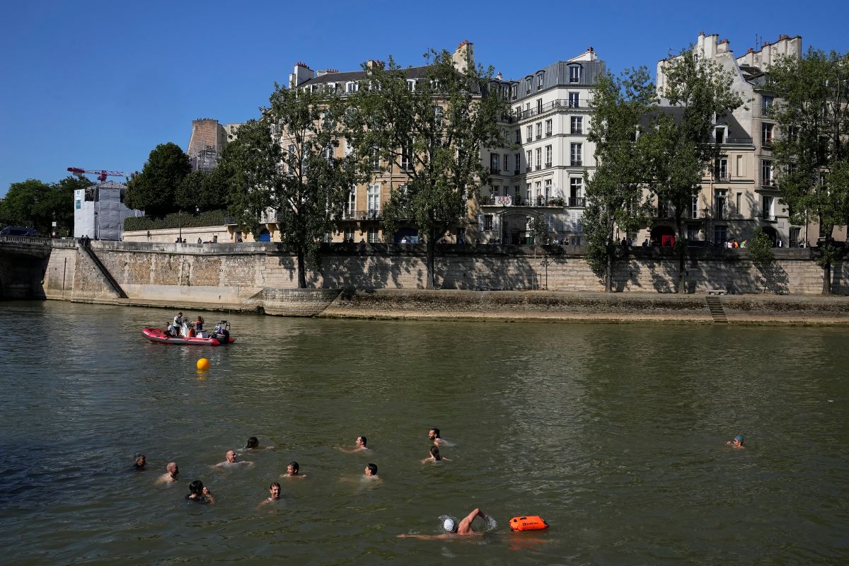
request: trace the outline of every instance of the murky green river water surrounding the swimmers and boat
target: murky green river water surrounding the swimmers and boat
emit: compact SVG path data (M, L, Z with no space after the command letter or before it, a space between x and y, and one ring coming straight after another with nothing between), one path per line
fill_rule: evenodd
M0 303L3 562L849 559L845 329L234 314L230 347L143 339L174 314ZM423 464L435 426L450 462ZM336 449L358 434L372 451ZM211 468L251 435L273 448ZM193 479L214 505L183 501ZM396 537L475 507L482 536ZM550 529L511 533L522 514Z

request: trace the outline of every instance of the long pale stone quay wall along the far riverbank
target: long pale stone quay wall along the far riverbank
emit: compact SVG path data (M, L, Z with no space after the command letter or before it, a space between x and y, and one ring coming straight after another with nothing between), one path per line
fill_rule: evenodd
M425 314L477 310L506 317L519 317L522 312L549 317L559 309L561 314L604 317L650 305L653 317L684 313L688 320L710 318L704 297L672 294L678 276L678 258L672 249L636 248L622 253L614 276L614 287L621 293L610 295L600 293L604 285L589 269L580 248L441 246L435 270L441 296L451 296L447 290L485 293L464 294L453 297L450 305L434 305L428 302L432 299L413 293L358 292L353 302L350 294L340 294L340 289L424 289L426 258L420 245L332 244L324 249L322 269L306 273L311 288L306 290L297 289L295 257L280 244L93 242L92 247L128 299L116 299L98 267L72 243L53 247L42 282L48 298L294 316L342 316L348 309L357 311L353 316L368 316L368 296L380 296L384 314L420 307ZM776 249L775 255L772 268L763 273L747 259L745 249L691 249L685 265L689 291L773 298L820 294L823 272L814 263L811 249ZM849 261L835 262L832 285L835 294L849 294ZM509 296L490 291L524 293ZM600 298L571 298L565 305L556 294L599 294ZM731 299L723 298L727 303ZM629 306L628 300L636 302ZM413 306L402 308L404 303ZM741 305L740 312L745 317L771 308L763 303ZM375 316L382 315L375 311Z

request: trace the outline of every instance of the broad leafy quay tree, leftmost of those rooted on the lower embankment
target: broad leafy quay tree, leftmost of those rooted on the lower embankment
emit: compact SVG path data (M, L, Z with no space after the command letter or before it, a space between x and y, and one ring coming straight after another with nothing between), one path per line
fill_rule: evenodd
M277 216L281 241L297 255L298 287L304 289L306 265L318 268L321 241L333 230L351 186L365 180L365 162L353 152L337 155L346 115L340 97L275 84L269 102L261 120L239 127L218 166L224 167L231 211L240 223L256 233L261 216Z

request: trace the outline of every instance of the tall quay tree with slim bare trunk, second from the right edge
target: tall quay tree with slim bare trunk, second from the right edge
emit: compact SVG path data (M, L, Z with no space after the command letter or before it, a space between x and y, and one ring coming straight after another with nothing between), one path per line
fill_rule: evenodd
M683 213L688 210L701 179L721 154L712 140L717 118L739 108L744 100L732 89L733 76L716 61L683 49L664 65L662 96L669 111L659 114L646 141L652 189L659 204L672 206L678 250L678 293L687 292Z

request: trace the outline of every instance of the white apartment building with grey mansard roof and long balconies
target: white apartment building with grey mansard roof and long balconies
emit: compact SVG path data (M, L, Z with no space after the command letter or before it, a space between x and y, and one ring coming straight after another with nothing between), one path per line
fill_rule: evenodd
M510 145L482 152L492 177L469 207L477 218L475 240L530 244L530 223L538 219L553 240L581 244L584 173L595 168L587 141L592 89L604 72L604 61L589 48L490 85L512 106L503 120Z

